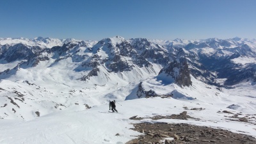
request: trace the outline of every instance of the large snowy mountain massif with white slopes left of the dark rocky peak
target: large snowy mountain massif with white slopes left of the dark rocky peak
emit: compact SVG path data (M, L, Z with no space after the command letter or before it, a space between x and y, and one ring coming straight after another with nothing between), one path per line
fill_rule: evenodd
M118 90L161 69L120 36L95 45L72 40L36 52L23 44L19 52L15 48L1 55L0 111L7 119L30 120L61 109L97 106L106 99L124 100L128 93Z

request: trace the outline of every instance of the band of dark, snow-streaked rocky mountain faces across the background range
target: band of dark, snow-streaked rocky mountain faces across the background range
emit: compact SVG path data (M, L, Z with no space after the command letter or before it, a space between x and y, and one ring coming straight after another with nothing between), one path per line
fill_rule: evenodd
M150 68L153 67L151 63L155 63L164 67L162 72L166 76L172 77L173 82L180 86L191 85L189 73L204 83L220 87L230 87L245 81L256 81L255 63L243 65L233 61L235 58L243 56L255 58L254 47L246 42L207 39L188 44L177 40L178 43L181 42L177 45L173 43L176 40L173 40L170 44L161 45L150 42L146 38L125 40L117 36L114 39L120 42L115 44L112 39L104 38L90 47L84 41L73 42L73 40L66 40L63 45L52 48L42 48L42 45L31 47L26 44L0 45L0 59L7 62L22 60L19 67L28 68L36 67L40 61L53 59L54 63L58 63L60 60L72 58L74 62L81 62L79 68L75 68L75 70L92 70L102 65L109 68L108 72L130 71L136 66ZM77 52L81 52L81 47L86 47L86 51L84 54L77 54ZM205 52L205 47L212 49L212 53ZM228 47L232 47L232 49ZM229 54L223 53L223 50ZM102 58L98 53L100 51L104 51L106 57ZM3 71L0 72L0 75L15 74L15 72L11 72L15 69ZM215 81L216 78L227 80L223 85L223 83Z

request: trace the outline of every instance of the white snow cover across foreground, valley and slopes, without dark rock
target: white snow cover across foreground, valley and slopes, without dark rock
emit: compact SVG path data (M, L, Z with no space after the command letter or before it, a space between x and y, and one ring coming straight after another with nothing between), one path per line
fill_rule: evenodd
M44 39L44 38L43 38ZM36 41L44 41L37 38ZM27 42L26 38L1 39L0 44ZM109 38L114 48L124 40L120 36ZM184 40L176 40L188 43ZM47 41L45 41L47 42ZM53 45L58 45L57 40ZM62 41L61 41L62 42ZM75 40L74 40L75 42ZM163 42L163 41L154 41ZM28 45L33 45L26 43ZM253 44L253 43L252 43ZM37 44L36 44L37 45ZM42 44L43 45L43 44ZM91 43L87 44L92 46ZM45 45L49 47L50 45ZM52 46L52 45L51 45ZM95 51L100 48L99 56L109 56L109 51L103 51L102 45L96 45ZM87 47L79 47L78 55L83 55ZM106 48L106 47L105 47ZM71 51L76 51L74 48ZM205 49L205 54L212 54L213 49ZM87 56L90 54L86 53ZM129 61L129 58L124 61ZM191 76L192 86L180 87L173 84L172 77L157 74L160 65L152 63L153 67L134 67L130 72L108 72L104 66L99 66L98 77L90 77L90 82L77 80L86 76L89 70L76 70L79 62L72 58L65 58L57 62L40 61L36 67L19 67L15 74L0 81L0 143L125 143L136 138L140 132L132 131L132 124L138 122L167 122L204 125L214 128L228 129L256 137L256 121L251 123L234 122L226 116L232 116L218 111L231 111L246 115L256 115L256 84L241 83L233 89L210 86ZM239 57L234 63L255 63L252 58ZM247 61L247 62L246 62ZM19 61L4 63L0 68L16 67ZM14 70L13 70L14 72ZM163 83L163 80L169 80ZM223 83L225 79L217 79ZM154 90L159 95L173 94L172 98L160 97L138 99L136 92L138 84L143 88ZM15 93L16 92L16 93ZM22 97L17 96L17 92ZM24 100L22 100L22 98ZM17 105L10 102L12 99ZM119 113L108 113L109 100L116 100L116 109ZM5 104L8 105L5 106ZM86 108L86 104L92 107ZM19 106L19 107L18 107ZM228 108L228 106L230 106ZM184 107L202 108L201 111L186 110ZM15 112L12 110L14 109ZM188 115L200 120L152 120L156 115L179 114L188 111ZM36 115L36 111L40 116ZM145 117L143 120L130 120L131 116ZM120 136L116 136L116 134Z

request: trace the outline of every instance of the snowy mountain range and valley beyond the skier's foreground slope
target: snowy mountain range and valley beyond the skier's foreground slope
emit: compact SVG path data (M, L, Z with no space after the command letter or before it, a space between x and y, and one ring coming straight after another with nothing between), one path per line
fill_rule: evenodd
M130 106L148 97L220 107L211 113L235 104L237 113L252 115L256 40L0 38L0 79L6 120L90 111L114 99Z

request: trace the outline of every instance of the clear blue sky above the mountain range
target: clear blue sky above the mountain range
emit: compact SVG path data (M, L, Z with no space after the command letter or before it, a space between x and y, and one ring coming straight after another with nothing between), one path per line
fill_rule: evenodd
M0 37L256 38L256 0L0 0Z

